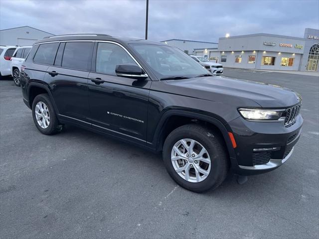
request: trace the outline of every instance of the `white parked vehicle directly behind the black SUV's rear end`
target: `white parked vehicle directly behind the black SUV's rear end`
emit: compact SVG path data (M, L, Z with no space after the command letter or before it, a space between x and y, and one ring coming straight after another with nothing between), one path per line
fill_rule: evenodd
M13 77L14 84L16 86L20 86L20 71L21 66L31 50L32 46L19 46L15 49L11 60L10 60L10 71L11 76Z

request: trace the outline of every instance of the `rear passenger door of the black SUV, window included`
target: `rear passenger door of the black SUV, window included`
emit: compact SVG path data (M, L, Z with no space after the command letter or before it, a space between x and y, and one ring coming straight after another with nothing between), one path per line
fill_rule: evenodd
M45 81L51 87L60 119L91 127L88 122L87 81L93 41L62 42Z

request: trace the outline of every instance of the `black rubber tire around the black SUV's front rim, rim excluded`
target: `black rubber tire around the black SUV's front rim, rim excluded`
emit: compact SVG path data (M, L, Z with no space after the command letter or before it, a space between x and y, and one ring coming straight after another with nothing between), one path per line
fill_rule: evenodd
M176 173L172 165L172 148L183 138L196 140L209 154L210 172L201 182L186 181ZM213 130L197 124L186 124L174 129L165 139L162 154L166 170L174 181L181 187L197 193L217 188L225 180L229 170L229 157L223 139Z

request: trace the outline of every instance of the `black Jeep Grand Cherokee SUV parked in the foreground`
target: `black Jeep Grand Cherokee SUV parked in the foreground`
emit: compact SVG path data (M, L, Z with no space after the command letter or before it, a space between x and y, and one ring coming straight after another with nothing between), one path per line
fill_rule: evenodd
M53 36L34 44L21 71L23 101L41 133L73 123L162 151L169 175L195 192L216 188L229 169L279 167L301 134L297 93L213 77L159 42Z

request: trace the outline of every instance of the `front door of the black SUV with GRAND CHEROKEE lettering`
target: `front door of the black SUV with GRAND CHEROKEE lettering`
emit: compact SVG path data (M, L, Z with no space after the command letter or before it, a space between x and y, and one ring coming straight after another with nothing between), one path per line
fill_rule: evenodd
M143 144L151 80L117 76L115 68L121 63L138 64L122 45L96 43L88 82L92 127Z

